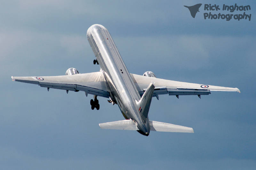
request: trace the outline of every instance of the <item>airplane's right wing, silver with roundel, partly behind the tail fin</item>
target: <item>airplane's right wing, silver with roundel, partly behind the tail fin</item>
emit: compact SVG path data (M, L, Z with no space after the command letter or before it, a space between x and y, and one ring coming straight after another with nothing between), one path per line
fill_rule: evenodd
M146 77L137 74L131 74L133 82L137 87L140 96L143 95L148 85L153 82L155 85L155 90L153 96L157 97L160 94L169 95L209 95L210 91L235 91L240 92L238 88L221 87L213 85L202 85L195 83L186 83L172 80L165 80L161 78Z

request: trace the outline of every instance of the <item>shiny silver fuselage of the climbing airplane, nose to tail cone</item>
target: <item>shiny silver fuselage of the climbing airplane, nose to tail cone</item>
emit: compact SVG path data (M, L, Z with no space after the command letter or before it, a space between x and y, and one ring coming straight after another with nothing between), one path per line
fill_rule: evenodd
M95 24L87 30L87 39L100 64L111 99L119 106L124 118L132 119L137 124L138 131L148 136L148 118L145 122L142 120L136 104L140 100L140 94L110 33L104 26Z

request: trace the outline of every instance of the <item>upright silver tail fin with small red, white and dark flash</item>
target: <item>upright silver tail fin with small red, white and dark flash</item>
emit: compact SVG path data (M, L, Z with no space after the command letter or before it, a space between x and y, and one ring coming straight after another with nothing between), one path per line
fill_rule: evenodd
M155 85L152 82L148 85L148 88L142 95L140 101L136 102L139 108L140 116L144 122L146 122L146 119L148 118L148 111L153 97L154 89Z

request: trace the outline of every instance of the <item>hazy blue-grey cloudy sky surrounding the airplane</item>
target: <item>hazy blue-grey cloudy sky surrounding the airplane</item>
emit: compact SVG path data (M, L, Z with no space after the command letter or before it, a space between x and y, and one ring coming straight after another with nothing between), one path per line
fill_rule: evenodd
M199 3L192 18L183 5ZM245 11L251 21L204 19L204 4L236 3L251 6ZM0 9L3 169L255 169L254 1L6 1ZM124 119L106 98L99 98L99 111L91 110L92 95L12 82L11 76L65 75L70 67L98 71L86 38L93 24L108 29L131 73L153 71L241 93L154 98L150 120L195 133L145 137L100 129L99 123Z

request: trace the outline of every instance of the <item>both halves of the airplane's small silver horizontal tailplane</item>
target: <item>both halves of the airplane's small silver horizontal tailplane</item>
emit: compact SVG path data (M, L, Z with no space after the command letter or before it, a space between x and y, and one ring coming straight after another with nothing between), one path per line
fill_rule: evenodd
M132 119L100 123L101 129L118 129L118 130L139 130L136 123ZM194 133L193 128L188 128L185 126L174 125L164 122L149 121L150 130L160 131L160 132L187 132Z

